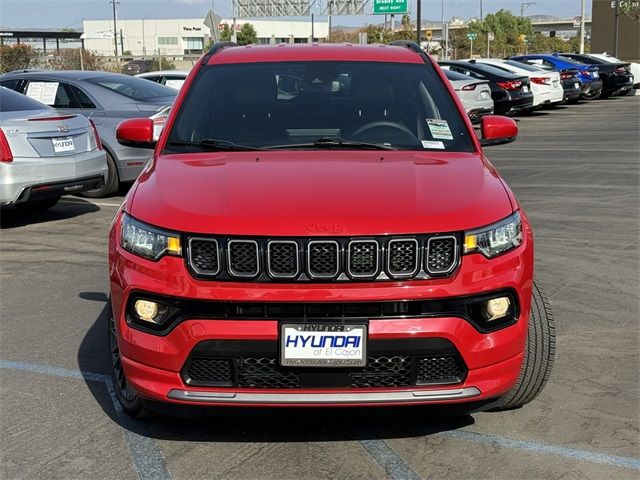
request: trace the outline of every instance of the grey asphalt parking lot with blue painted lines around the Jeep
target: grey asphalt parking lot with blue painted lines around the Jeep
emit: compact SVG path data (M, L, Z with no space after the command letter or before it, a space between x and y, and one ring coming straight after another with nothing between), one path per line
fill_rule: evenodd
M126 417L108 380L107 229L122 196L2 214L2 478L638 478L640 97L519 121L486 149L524 205L558 329L528 406ZM122 193L122 192L121 192Z

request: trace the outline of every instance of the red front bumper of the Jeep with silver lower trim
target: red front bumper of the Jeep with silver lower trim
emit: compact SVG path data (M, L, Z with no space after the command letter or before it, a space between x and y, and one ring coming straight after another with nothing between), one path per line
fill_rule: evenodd
M326 406L459 403L499 397L516 382L522 363L530 313L533 278L531 232L523 222L525 241L500 257L464 256L450 278L349 284L261 284L207 281L193 278L184 260L164 257L150 262L121 249L110 234L112 307L118 345L131 386L153 402L186 405ZM464 297L504 289L518 298L515 324L482 333L468 319L442 314L428 318L368 318L368 340L442 339L465 365L456 384L403 386L316 386L256 388L194 386L184 368L194 349L207 342L262 342L277 348L281 322L274 318L215 318L195 315L157 334L127 322L128 299L136 292L221 302L380 302ZM425 352L427 354L429 352ZM292 367L295 368L295 367Z

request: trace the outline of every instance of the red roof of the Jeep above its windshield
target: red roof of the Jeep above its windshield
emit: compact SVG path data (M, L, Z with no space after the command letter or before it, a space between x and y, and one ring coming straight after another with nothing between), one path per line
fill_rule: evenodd
M286 61L363 61L424 63L421 55L407 47L395 45L353 45L349 43L312 43L246 45L227 47L209 60L211 64L286 62Z

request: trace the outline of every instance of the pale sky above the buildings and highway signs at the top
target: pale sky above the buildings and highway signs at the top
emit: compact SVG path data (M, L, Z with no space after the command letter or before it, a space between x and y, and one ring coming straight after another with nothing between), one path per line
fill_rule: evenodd
M116 0L118 18L204 18L207 11L214 11L228 18L231 15L231 0ZM324 4L326 0L317 0ZM482 0L483 14L501 8L520 14L522 1L533 0ZM373 0L365 6L372 10ZM467 19L480 16L481 0L444 0L445 19L452 16ZM591 0L587 0L587 14L591 13ZM409 0L412 17L415 18L416 0ZM442 0L422 0L422 19L439 20ZM316 10L317 12L317 10ZM525 15L553 15L573 17L580 15L580 0L535 0L527 7ZM74 28L82 29L82 20L112 18L109 0L0 0L0 25L5 28ZM337 17L333 25L361 26L381 23L379 16Z

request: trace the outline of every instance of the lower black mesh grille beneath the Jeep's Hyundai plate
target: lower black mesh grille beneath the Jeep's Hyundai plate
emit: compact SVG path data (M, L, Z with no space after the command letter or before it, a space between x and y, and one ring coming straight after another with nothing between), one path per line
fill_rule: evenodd
M274 342L201 342L182 369L191 386L235 388L368 388L451 385L466 377L444 339L370 341L362 368L282 367Z

